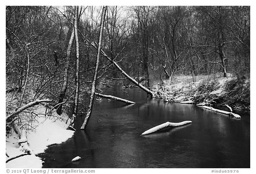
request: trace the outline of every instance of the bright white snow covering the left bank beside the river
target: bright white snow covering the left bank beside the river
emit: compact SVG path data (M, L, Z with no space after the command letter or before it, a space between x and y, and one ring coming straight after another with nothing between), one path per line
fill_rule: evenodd
M45 108L42 105L37 106L37 113L45 113ZM66 123L68 116L63 113L58 116L56 112L52 113L51 117L40 116L32 123L33 130L29 130L27 134L29 147L33 150L34 154L40 154L47 149L51 144L59 144L71 138L74 131L67 130ZM16 133L6 137L6 160L24 154L20 151L20 145ZM25 155L13 159L6 163L6 168L41 168L42 160L35 155Z

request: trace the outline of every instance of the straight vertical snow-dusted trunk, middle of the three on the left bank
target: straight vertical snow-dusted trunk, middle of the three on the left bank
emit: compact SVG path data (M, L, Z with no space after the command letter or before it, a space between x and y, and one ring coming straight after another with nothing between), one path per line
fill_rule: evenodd
M78 6L75 6L75 20L74 20L74 34L76 40L76 78L75 78L75 100L73 114L77 115L78 102L79 102L79 42L77 33L77 19L78 19Z

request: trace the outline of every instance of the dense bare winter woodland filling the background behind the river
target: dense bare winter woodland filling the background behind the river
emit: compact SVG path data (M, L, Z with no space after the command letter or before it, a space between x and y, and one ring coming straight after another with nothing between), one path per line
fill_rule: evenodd
M107 7L98 59L101 16L102 7L6 6L6 91L18 100L7 112L51 98L58 114L77 114L93 79L123 78L118 66L146 89L175 74L250 73L249 6Z

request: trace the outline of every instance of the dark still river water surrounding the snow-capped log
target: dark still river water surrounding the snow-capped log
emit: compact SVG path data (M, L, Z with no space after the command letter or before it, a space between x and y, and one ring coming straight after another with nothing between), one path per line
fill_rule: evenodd
M124 91L127 93L124 93ZM250 168L250 116L235 119L192 104L164 103L140 89L104 92L136 102L95 101L86 130L40 157L45 168ZM192 124L141 135L156 125ZM80 161L70 162L80 156Z

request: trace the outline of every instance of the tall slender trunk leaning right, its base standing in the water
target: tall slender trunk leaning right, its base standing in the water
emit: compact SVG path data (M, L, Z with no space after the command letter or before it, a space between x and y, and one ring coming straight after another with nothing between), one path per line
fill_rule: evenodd
M100 22L100 36L99 36L99 43L98 43L96 66L95 66L95 71L94 71L94 76L93 76L93 81L92 81L90 104L89 104L89 109L88 109L88 112L86 114L84 123L81 126L81 129L84 129L86 127L86 125L88 124L89 118L92 114L92 106L93 106L93 100L94 100L94 97L95 97L95 88L96 88L96 80L97 80L97 74L98 74L98 68L99 68L99 62L100 62L101 40L102 40L102 34L103 34L103 28L104 28L104 20L105 20L105 15L106 15L106 9L107 9L107 7L103 6L101 22Z

